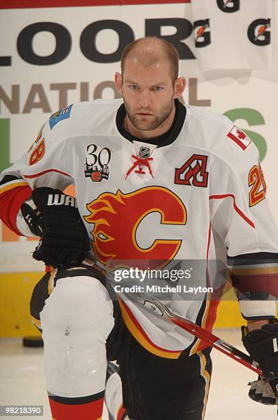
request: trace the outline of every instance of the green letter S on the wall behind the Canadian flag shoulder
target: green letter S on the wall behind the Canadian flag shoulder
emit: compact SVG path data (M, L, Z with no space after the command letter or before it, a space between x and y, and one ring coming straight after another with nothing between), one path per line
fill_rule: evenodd
M259 111L252 109L252 108L235 108L227 110L224 115L231 119L231 121L235 122L237 119L245 119L248 122L249 126L263 126L265 123L264 117L262 116ZM260 161L263 161L264 157L266 156L267 144L266 140L262 135L255 131L246 130L242 128L247 136L255 143L257 149L260 153Z

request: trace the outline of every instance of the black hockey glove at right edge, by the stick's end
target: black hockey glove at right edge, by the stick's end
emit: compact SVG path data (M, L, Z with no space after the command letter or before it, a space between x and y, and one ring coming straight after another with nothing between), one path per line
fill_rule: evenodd
M277 404L278 402L278 323L266 324L262 329L248 332L242 327L242 342L258 362L263 377L251 382L249 397L262 404Z

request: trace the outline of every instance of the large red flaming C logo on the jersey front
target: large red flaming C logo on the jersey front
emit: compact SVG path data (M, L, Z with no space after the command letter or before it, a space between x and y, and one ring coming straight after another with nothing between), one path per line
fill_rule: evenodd
M181 246L181 240L155 239L149 248L142 248L136 240L140 222L153 212L160 213L160 224L186 224L183 202L166 188L147 187L130 194L120 190L116 194L103 193L87 208L90 215L84 219L94 223L94 253L112 270L118 266L117 261L173 259Z

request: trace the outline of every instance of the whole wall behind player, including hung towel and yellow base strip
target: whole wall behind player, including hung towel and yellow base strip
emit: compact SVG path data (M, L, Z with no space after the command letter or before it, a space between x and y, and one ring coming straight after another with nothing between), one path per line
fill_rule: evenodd
M125 45L163 36L177 47L187 79L180 99L227 115L257 145L278 222L277 17L274 0L2 1L0 170L29 148L51 113L117 97L114 73ZM36 334L29 299L44 271L31 258L36 241L0 222L1 337ZM220 304L216 327L238 325L231 296Z

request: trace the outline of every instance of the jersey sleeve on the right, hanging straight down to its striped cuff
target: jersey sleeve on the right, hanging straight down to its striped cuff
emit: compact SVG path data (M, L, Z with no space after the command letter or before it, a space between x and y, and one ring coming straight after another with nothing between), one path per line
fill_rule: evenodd
M257 148L251 143L229 160L215 158L210 175L212 228L227 249L229 279L242 315L273 318L278 296L278 231Z

